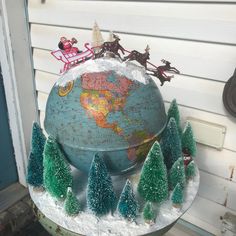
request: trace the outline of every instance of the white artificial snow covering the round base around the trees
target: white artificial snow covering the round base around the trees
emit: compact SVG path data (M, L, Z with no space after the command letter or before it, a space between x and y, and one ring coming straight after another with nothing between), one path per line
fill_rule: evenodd
M134 189L137 189L138 176L130 178ZM85 209L76 217L67 216L63 209L63 202L56 201L48 192L36 192L30 187L30 195L38 209L50 220L65 229L90 236L135 236L143 235L165 228L175 222L192 204L199 187L199 172L194 179L189 180L185 188L185 201L180 209L174 208L169 200L164 202L157 211L156 223L146 224L140 212L136 222L129 222L121 218L117 212L101 218L96 217ZM84 192L86 192L84 190ZM78 194L81 199L82 193Z

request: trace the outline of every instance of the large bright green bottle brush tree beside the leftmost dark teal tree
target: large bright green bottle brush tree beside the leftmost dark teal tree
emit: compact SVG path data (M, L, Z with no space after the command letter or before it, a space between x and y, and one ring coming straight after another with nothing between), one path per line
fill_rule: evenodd
M44 187L57 199L66 197L67 188L72 186L72 175L68 162L57 141L49 136L44 148Z

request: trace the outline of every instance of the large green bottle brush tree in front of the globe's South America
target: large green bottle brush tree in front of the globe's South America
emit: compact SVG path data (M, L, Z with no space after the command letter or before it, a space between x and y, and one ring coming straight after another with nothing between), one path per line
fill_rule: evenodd
M143 164L138 192L145 201L162 202L168 198L167 170L157 141Z

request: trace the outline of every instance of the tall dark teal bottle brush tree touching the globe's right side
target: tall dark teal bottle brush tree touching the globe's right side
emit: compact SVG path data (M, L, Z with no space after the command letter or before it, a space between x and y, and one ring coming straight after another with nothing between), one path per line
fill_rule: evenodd
M182 156L181 139L173 117L170 118L167 127L163 132L160 144L165 164L169 170L175 161Z

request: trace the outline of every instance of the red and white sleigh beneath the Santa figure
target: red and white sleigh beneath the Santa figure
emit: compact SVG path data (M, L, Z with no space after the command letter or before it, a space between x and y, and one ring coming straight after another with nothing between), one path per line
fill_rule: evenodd
M51 54L59 61L64 63L63 69L60 73L63 73L70 69L74 65L78 65L80 63L85 62L88 59L94 58L94 51L89 47L89 43L85 43L84 47L86 48L83 52L75 52L71 50L70 52L65 52L64 50L57 49L52 51Z

